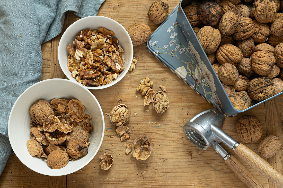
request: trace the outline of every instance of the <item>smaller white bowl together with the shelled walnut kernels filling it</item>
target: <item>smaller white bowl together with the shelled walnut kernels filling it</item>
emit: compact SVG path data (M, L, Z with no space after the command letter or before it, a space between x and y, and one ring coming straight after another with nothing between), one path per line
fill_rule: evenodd
M119 82L133 59L126 29L104 16L88 16L63 33L58 60L67 78L87 89L104 89Z

